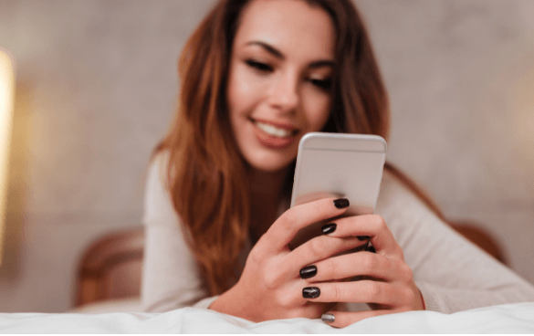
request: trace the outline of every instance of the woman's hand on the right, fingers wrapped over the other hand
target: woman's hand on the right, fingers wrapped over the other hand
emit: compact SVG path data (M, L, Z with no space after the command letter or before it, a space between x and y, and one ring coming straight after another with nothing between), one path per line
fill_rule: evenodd
M367 311L330 311L323 320L338 328L373 316L408 310L424 310L412 269L406 265L403 249L393 238L380 215L358 215L336 220L330 237L369 236L376 253L359 252L330 257L314 264L317 275L308 278L309 290L319 297L309 302L365 302ZM362 276L351 282L321 282ZM317 290L319 289L319 290Z

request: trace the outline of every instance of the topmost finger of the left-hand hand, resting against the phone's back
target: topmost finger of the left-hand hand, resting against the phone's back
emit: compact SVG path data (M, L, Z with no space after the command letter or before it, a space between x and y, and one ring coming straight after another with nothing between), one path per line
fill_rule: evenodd
M293 206L278 217L277 221L267 230L267 233L261 237L261 240L265 241L265 246L271 251L278 252L288 248L289 242L301 228L343 214L347 207L340 208L338 207L340 204L339 199L330 197Z

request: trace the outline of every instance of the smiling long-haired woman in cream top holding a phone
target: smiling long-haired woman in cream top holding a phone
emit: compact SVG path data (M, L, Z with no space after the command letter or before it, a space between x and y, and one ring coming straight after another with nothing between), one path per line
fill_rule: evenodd
M534 299L529 283L455 234L389 164L376 215L338 219L288 249L299 228L348 206L325 198L288 209L298 140L309 131L387 139L387 96L350 0L220 1L179 70L177 118L147 184L146 310L194 305L344 327ZM375 253L333 257L369 241ZM338 281L352 277L362 279Z

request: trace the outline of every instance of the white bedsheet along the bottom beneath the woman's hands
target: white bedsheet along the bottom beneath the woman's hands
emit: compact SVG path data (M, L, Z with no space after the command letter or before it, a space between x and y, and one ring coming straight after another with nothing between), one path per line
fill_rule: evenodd
M212 310L166 313L0 313L0 333L534 333L534 302L466 310L455 314L410 311L334 329L320 320L253 323Z

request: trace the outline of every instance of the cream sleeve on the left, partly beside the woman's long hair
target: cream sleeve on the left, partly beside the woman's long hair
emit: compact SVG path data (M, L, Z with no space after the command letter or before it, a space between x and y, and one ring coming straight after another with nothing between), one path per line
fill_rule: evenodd
M145 246L141 281L143 310L162 312L211 301L165 187L166 156L150 166L144 199ZM206 306L207 305L207 306Z

